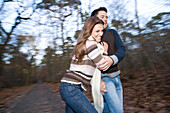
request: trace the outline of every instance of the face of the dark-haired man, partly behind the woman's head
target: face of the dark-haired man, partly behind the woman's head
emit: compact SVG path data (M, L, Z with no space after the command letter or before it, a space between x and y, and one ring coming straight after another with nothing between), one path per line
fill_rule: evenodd
M105 11L99 11L97 17L104 22L104 29L107 27L107 13Z

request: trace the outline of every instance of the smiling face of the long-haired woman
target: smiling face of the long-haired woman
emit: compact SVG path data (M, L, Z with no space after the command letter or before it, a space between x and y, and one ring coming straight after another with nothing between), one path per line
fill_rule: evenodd
M101 41L101 37L103 35L103 28L104 26L102 24L96 24L92 30L91 36L96 40L97 42Z

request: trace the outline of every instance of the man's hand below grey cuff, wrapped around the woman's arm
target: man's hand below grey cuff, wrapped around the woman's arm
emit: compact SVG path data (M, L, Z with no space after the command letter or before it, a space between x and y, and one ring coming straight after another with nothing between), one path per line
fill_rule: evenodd
M109 56L103 56L105 60L98 64L100 70L106 71L112 64L113 60Z

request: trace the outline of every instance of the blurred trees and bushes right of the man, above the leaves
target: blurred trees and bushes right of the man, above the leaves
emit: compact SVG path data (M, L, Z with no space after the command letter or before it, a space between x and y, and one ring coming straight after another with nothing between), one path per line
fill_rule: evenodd
M128 38L133 44L132 48L128 46L127 56L122 63L126 70L133 68L131 71L134 72L142 69L147 73L151 70L157 72L157 69L169 68L169 19L170 12L159 13L152 17L152 20L140 29L139 33L135 35L122 34L125 37L129 36Z

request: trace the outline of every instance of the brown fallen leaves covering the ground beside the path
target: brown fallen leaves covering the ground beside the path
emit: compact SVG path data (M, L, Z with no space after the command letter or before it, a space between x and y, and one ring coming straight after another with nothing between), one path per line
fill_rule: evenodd
M125 113L168 113L170 111L170 69L157 70L157 73L132 72L133 77L121 75L124 90ZM128 73L130 74L130 73ZM125 79L126 78L126 79ZM53 92L59 93L60 82L45 83ZM0 108L12 98L22 95L34 85L2 89ZM92 102L90 88L85 95Z

